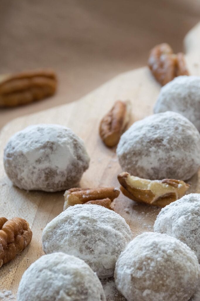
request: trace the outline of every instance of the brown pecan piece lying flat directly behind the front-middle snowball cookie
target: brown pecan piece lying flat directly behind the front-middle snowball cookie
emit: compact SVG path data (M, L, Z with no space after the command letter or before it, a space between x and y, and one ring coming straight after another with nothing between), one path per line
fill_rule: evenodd
M91 202L94 204L94 201L108 204L108 199L112 202L116 197L118 197L120 191L115 187L98 187L98 188L70 188L64 193L64 208L67 209L69 206L76 204L85 204ZM106 200L106 201L105 201ZM97 204L97 203L96 203ZM102 203L103 204L103 203Z

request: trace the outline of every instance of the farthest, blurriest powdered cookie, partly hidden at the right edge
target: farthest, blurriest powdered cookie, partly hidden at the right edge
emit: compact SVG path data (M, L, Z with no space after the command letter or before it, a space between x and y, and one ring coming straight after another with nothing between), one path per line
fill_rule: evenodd
M200 131L200 76L178 76L161 88L154 113L174 111Z

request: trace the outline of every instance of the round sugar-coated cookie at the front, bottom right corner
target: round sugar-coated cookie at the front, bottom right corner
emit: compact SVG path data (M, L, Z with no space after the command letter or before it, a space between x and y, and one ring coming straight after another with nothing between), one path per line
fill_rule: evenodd
M115 283L128 301L188 301L199 283L196 255L180 240L145 232L119 256Z

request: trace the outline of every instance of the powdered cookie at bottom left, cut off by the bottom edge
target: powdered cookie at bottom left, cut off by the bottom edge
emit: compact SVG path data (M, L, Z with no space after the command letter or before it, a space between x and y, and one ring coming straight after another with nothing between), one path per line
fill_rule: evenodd
M81 259L64 253L40 257L19 283L18 301L106 301L103 287Z

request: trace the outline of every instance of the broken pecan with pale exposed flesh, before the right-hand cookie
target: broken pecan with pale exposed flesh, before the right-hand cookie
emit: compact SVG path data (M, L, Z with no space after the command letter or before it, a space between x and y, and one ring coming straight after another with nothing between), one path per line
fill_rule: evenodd
M131 200L153 206L165 207L181 198L190 185L181 180L147 180L131 176L128 172L118 175L121 192Z

